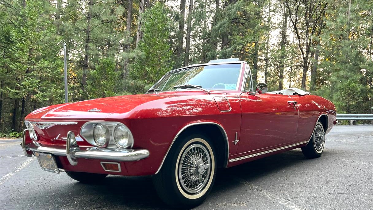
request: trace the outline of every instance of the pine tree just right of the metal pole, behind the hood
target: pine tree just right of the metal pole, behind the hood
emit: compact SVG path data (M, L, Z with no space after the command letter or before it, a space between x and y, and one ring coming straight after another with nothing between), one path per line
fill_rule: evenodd
M68 46L74 71L79 75L74 86L80 100L89 99L87 85L95 64L102 58L115 58L122 40L128 40L125 32L117 30L117 13L122 6L114 0L68 0L65 9L68 21L64 25L69 32L72 46ZM80 77L81 75L81 77Z

